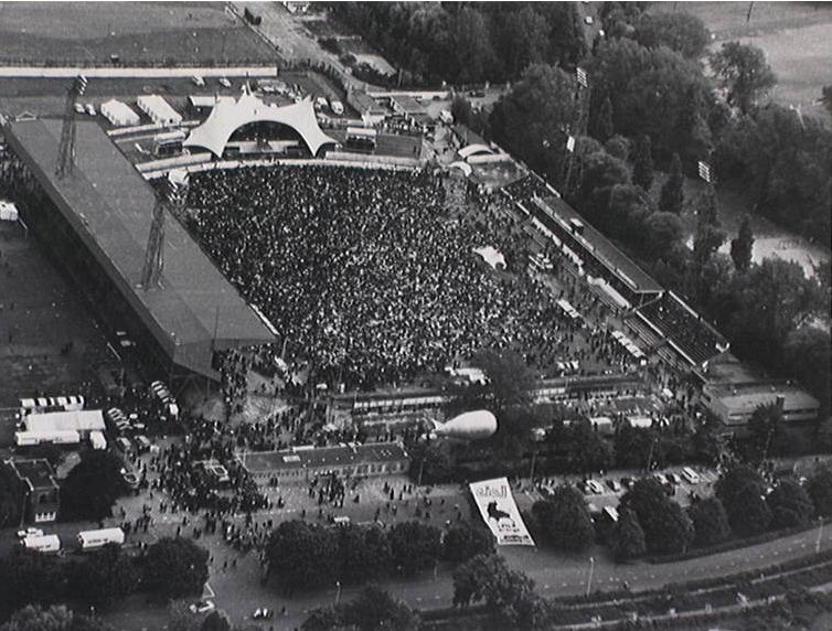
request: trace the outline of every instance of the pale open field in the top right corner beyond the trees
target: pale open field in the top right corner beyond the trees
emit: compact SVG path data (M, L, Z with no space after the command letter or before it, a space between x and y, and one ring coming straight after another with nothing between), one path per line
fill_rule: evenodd
M825 116L817 100L821 88L832 85L832 3L657 2L652 6L654 11L674 9L701 18L714 34L713 47L739 40L762 49L778 77L771 98L783 105L799 105L804 114Z

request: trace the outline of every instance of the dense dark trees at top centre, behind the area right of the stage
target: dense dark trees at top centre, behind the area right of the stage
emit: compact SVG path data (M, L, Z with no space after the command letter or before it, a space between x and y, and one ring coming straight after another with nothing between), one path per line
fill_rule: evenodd
M513 81L532 63L574 66L586 53L580 18L569 2L329 8L416 84Z

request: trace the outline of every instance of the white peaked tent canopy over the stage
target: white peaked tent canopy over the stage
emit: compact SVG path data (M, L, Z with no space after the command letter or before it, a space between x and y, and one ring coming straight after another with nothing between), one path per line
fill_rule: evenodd
M312 156L327 143L335 140L323 133L314 116L314 107L309 99L277 107L266 105L256 96L243 93L238 99L218 99L205 122L194 128L185 147L202 147L220 158L232 135L252 122L279 122L291 127L303 139Z

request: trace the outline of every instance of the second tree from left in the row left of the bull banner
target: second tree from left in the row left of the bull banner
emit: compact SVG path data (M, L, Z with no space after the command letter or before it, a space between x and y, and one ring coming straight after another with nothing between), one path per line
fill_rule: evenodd
M383 530L349 524L338 528L337 539L342 582L375 580L390 568L390 542Z

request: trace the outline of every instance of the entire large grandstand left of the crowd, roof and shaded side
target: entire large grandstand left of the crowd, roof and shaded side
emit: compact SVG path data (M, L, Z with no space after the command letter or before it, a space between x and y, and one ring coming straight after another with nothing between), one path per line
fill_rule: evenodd
M61 121L20 120L4 132L31 175L15 186L26 222L90 302L130 327L154 368L169 379L217 378L214 351L274 341L171 216L161 287L138 289L156 197L97 124L77 124L75 177L63 180L55 177Z

